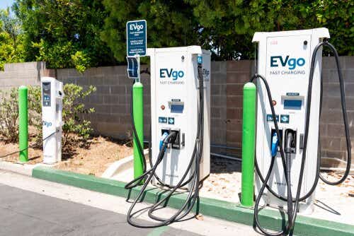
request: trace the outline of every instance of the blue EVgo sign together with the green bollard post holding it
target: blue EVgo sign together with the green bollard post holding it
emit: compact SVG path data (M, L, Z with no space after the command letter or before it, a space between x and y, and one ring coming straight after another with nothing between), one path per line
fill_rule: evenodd
M147 55L147 21L127 22L127 73L135 80L132 85L132 122L133 132L134 178L144 173L144 87L140 82L140 57ZM140 150L142 147L142 150Z

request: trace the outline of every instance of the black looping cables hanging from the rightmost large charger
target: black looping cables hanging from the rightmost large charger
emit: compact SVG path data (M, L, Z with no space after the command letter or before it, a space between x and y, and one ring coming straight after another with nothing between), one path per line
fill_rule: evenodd
M329 182L327 179L325 179L320 173L320 166L321 166L320 153L321 153L321 151L319 150L319 153L317 154L316 177L314 179L314 184L312 185L311 189L307 192L307 194L304 194L304 196L300 197L300 191L301 191L301 187L302 187L302 179L303 179L303 175L304 175L304 165L305 165L305 160L306 160L306 152L307 152L307 141L308 141L308 136L309 136L309 117L310 117L310 112L311 112L312 83L313 83L313 79L314 79L314 67L315 67L315 63L316 63L316 54L319 51L319 49L323 46L329 47L329 49L331 49L331 51L333 52L335 59L336 59L336 66L337 66L338 78L339 78L340 90L341 90L341 107L342 107L342 113L343 113L343 122L344 122L345 133L346 133L346 146L347 146L346 172L343 175L343 177L341 177L341 179L338 179L338 181L336 181L336 182ZM256 78L261 78L261 80L265 84L265 89L267 90L268 100L270 102L270 108L272 110L272 117L273 117L273 122L275 124L275 130L277 132L278 137L281 138L281 136L279 135L278 122L275 117L274 106L273 106L273 102L271 99L271 94L270 94L270 89L269 89L268 83L266 82L265 78L263 78L263 76L258 75L258 74L253 76L251 81L253 81ZM299 172L299 181L298 181L297 194L295 196L295 199L292 199L291 184L289 184L290 183L290 160L288 160L288 159L289 159L290 153L287 153L287 158L286 158L287 160L284 161L283 160L284 159L284 151L282 150L282 146L281 145L279 146L280 147L280 155L282 157L282 164L283 164L283 167L285 170L285 179L287 182L287 198L286 199L284 197L280 196L279 194L276 194L273 191L273 189L271 189L268 186L268 180L270 178L270 173L272 172L273 166L275 163L274 157L272 157L272 160L270 162L270 167L269 167L268 173L265 178L263 178L263 176L261 175L261 171L258 167L257 160L255 162L256 163L256 171L258 173L258 177L261 179L262 187L261 187L261 189L258 193L257 199L256 199L255 209L254 209L254 218L255 218L255 223L256 223L257 228L259 230L261 230L261 232L263 232L264 235L270 235L270 236L287 235L287 234L292 235L293 230L294 230L295 220L297 217L297 210L299 207L299 201L304 201L305 199L307 199L309 196L312 195L312 193L316 189L316 185L318 183L319 178L321 178L321 180L324 181L326 184L336 185L336 184L341 184L348 177L349 172L350 172L350 165L351 165L351 145L350 145L350 134L349 134L349 126L348 126L348 117L347 117L347 113L346 113L346 100L345 100L345 98L346 98L346 96L345 96L345 90L344 90L344 81L343 81L343 76L342 76L342 72L341 72L341 66L339 64L338 52L333 47L333 45L331 45L327 40L324 40L324 42L319 43L319 45L317 45L315 47L314 52L312 54L310 74L309 74L309 86L308 86L308 90L307 90L307 112L306 112L306 122L305 122L305 131L304 131L304 146L303 146L303 150L302 150L302 162L301 162L301 167L300 167L300 172ZM321 101L322 101L322 81L321 81ZM321 105L320 105L320 110L321 110ZM319 117L321 117L321 112L319 114ZM282 142L280 141L280 143L282 143ZM264 228L262 228L259 223L259 220L258 220L259 201L261 200L261 196L262 196L265 188L267 188L270 191L270 193L273 194L274 196L276 196L278 199L280 199L282 201L287 201L287 207L288 207L287 226L285 227L284 230L282 230L280 232L270 233L270 232L266 231ZM291 202L291 204L290 204L290 202ZM292 206L292 203L295 203L294 206Z

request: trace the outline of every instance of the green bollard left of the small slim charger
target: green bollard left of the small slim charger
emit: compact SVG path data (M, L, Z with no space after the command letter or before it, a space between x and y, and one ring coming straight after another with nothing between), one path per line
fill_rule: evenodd
M28 148L28 88L18 88L18 139L20 151ZM20 152L20 162L28 162L28 150Z

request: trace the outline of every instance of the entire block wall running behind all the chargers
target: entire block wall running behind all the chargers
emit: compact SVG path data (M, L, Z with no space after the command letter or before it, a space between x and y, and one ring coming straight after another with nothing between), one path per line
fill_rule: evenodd
M341 57L346 82L346 102L350 134L354 143L354 57ZM145 69L147 66L142 66ZM211 136L212 143L241 147L242 88L254 70L254 61L213 61L211 71ZM341 114L336 63L333 57L323 59L324 104L321 114L322 155L346 158L346 143ZM85 101L96 112L87 117L96 134L114 138L128 138L130 125L130 90L132 81L127 78L125 66L88 69L78 73L75 69L58 69L57 78L64 83L76 83L97 90ZM39 85L40 76L55 76L42 62L6 64L0 71L0 89L18 85ZM147 74L144 83L144 130L149 134L150 83ZM148 138L148 137L146 137ZM352 146L353 146L352 143ZM354 151L353 151L354 153Z

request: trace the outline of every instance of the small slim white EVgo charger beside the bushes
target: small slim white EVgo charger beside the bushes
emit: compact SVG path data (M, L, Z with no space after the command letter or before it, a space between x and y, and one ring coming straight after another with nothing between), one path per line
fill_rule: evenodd
M62 160L62 100L63 83L52 77L41 78L43 163ZM48 138L47 138L48 137Z

